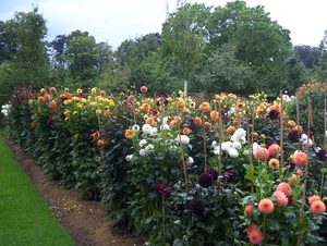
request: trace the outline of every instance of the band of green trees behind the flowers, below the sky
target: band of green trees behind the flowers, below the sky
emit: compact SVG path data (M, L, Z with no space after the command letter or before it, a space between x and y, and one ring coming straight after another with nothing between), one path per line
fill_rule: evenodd
M263 5L247 7L242 0L225 7L178 0L161 33L126 39L116 51L88 32L59 34L50 42L44 40L46 34L46 20L36 7L0 21L2 88L56 83L114 93L146 85L149 93L161 94L187 85L190 93L261 90L276 96L327 74L327 33L319 47L292 47L290 30Z

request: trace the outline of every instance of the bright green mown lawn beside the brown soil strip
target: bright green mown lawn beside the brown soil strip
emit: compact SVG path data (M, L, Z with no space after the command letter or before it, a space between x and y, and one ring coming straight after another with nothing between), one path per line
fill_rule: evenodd
M0 245L73 246L0 135Z

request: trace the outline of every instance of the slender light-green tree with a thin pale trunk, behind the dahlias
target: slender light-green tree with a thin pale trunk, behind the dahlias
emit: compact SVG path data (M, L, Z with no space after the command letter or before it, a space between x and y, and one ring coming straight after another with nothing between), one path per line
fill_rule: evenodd
M179 69L178 76L184 79L185 93L191 73L201 64L209 11L204 4L185 3L162 24L162 63L172 63Z

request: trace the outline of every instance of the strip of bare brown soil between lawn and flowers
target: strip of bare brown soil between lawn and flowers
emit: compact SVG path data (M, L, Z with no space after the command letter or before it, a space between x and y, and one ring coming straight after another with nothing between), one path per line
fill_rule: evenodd
M106 206L81 198L78 190L66 189L58 181L45 174L44 169L28 157L19 145L8 146L29 176L38 193L45 198L53 214L65 227L77 246L142 246L144 238L132 234L118 234L107 220Z

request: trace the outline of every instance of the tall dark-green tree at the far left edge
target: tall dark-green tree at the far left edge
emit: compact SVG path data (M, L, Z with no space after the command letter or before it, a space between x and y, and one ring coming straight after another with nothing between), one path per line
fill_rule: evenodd
M49 78L49 61L44 38L47 34L46 20L34 7L28 13L15 13L14 19L2 23L2 51L9 67L15 76L2 74L10 79L10 86L25 84L39 88Z

